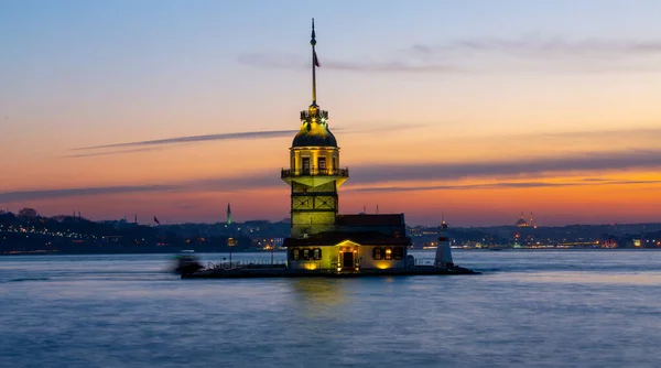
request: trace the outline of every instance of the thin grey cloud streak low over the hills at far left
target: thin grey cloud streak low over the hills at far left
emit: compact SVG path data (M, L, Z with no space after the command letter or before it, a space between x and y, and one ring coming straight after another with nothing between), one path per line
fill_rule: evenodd
M55 188L35 191L0 192L0 202L22 202L33 199L52 199L74 196L96 196L111 194L128 194L141 192L164 192L182 188L178 185L119 185L78 188Z

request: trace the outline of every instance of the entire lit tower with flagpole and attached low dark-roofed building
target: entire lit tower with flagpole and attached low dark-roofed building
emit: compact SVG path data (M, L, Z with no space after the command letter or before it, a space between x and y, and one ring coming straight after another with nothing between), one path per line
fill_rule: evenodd
M290 169L281 178L291 187L291 237L284 240L290 269L350 271L407 268L403 214L338 215L337 190L349 178L328 111L316 101L316 57L312 26L312 104L290 148Z

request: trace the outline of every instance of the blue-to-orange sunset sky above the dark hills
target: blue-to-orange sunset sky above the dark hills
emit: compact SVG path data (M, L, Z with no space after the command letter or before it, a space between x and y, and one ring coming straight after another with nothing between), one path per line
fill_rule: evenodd
M340 213L661 221L661 1L0 1L0 208L279 220L311 102Z

